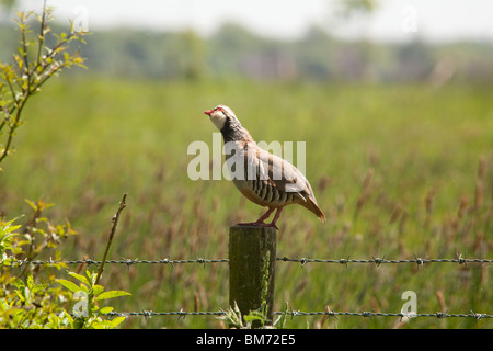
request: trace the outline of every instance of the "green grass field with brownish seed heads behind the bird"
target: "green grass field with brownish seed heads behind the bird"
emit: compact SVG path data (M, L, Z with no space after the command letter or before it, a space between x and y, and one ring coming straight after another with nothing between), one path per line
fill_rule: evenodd
M206 109L231 106L259 140L306 141L307 177L329 220L301 206L279 222L277 257L493 258L491 87L159 82L72 77L27 106L2 163L0 213L28 217L25 199L78 230L65 259L101 259L128 193L111 259L227 258L229 226L264 211L226 180L191 181L194 140L211 145ZM480 165L482 165L480 167ZM24 219L21 219L24 220ZM71 267L70 269L74 269ZM108 265L121 312L228 308L225 263ZM275 309L493 313L491 264L278 262ZM391 317L295 317L288 328L392 328ZM219 328L215 317L129 317L124 327ZM404 328L491 328L490 319L415 318Z

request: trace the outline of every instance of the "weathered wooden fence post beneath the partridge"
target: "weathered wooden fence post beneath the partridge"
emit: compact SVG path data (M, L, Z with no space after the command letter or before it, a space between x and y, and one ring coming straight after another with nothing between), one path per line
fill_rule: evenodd
M264 295L267 324L273 321L276 238L277 229L273 227L229 229L229 304L237 303L244 316L262 307Z

